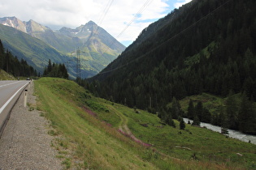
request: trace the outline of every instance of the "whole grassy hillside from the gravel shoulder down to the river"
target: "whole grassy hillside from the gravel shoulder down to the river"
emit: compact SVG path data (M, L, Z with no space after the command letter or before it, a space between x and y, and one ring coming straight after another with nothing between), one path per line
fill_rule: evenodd
M186 130L162 125L156 115L95 98L64 79L40 79L36 91L37 108L51 121L50 134L58 138L53 145L67 168L255 168L253 144L190 125ZM88 108L98 116L91 116ZM154 147L143 147L120 134L117 129L125 124Z

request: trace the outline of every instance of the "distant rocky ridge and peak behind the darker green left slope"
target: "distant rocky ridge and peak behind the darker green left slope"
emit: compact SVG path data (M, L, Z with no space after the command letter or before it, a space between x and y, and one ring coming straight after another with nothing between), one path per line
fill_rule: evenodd
M75 29L63 27L59 31L53 31L32 19L24 22L16 17L4 17L0 18L0 23L40 39L70 57L76 57L75 52L79 48L81 70L85 72L83 78L97 74L125 49L124 45L93 21Z

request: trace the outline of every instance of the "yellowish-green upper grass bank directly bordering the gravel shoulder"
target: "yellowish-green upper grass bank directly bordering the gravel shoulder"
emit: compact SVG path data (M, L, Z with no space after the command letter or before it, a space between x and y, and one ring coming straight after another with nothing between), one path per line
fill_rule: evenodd
M62 134L65 139L61 146L67 148L80 168L154 168L154 165L143 161L139 152L142 148L130 142L106 123L85 113L80 108L80 98L86 97L82 87L63 79L40 79L36 83L40 96L40 109L46 111L55 134ZM70 97L71 96L71 97ZM134 148L134 149L133 149ZM137 151L137 150L138 151ZM60 152L63 153L63 152ZM75 165L74 165L75 166Z

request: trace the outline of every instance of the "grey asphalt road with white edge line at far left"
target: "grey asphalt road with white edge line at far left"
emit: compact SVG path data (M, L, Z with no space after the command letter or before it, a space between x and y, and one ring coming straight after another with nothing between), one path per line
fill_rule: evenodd
M0 81L0 132L28 81Z

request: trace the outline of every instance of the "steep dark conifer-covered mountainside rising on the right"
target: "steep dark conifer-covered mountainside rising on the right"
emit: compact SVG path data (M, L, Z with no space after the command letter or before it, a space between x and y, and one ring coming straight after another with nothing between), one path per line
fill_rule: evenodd
M233 121L223 126L256 134L255 16L254 0L193 0L145 28L90 83L79 83L108 100L158 113L167 123L177 115L167 108L173 99L202 92L229 97L223 112L210 120L195 113L190 118L223 117Z

